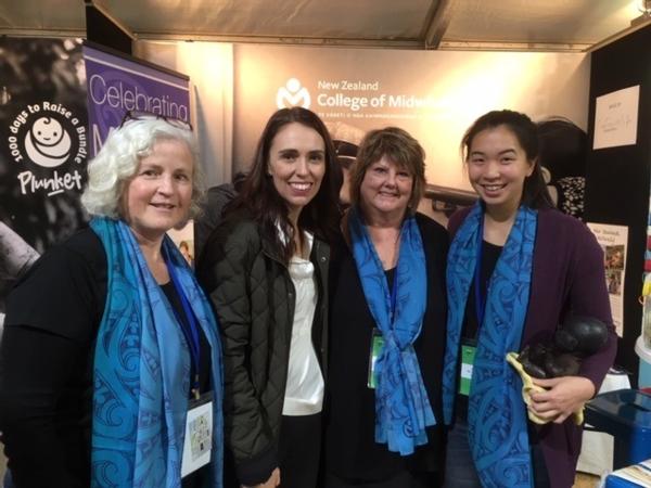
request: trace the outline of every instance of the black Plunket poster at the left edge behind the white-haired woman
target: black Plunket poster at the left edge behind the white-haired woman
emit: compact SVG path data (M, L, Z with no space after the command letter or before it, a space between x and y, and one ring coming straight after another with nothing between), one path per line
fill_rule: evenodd
M80 39L0 38L0 324L7 293L86 222Z

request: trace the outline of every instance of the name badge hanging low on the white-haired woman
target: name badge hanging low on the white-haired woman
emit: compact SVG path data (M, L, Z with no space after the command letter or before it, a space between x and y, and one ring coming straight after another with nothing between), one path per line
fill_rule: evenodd
M210 462L213 450L213 391L188 403L181 477Z

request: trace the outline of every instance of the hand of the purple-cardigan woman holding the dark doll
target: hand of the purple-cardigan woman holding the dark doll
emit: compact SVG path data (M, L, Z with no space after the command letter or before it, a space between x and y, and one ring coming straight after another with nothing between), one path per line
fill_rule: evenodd
M583 376L561 376L550 380L532 378L547 391L532 393L529 410L536 415L562 424L595 396L595 385Z

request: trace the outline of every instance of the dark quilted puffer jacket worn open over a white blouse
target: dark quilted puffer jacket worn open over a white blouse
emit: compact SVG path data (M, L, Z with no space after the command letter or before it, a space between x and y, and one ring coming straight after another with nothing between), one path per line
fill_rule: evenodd
M328 244L315 237L310 260L319 293L312 343L326 376ZM240 483L264 483L278 466L294 285L286 266L244 210L213 232L200 257L197 278L222 334L226 441Z

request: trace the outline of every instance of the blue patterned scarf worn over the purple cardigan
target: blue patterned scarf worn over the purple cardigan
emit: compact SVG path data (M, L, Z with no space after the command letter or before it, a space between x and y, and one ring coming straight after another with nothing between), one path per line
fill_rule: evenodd
M447 265L448 331L444 367L444 416L452 420L459 341L472 287L484 218L482 204L470 211L450 245ZM490 278L480 324L468 408L469 442L484 487L533 486L522 381L505 360L519 350L532 282L537 213L520 207ZM478 272L478 271L477 271Z

